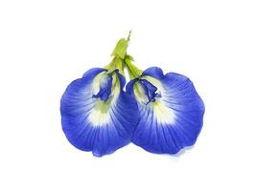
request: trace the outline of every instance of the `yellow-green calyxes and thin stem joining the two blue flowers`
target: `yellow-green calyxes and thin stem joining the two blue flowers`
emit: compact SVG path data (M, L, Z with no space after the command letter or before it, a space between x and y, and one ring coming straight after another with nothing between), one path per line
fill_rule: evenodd
M117 42L114 51L111 53L113 59L105 66L105 69L108 70L108 73L112 73L114 70L118 69L119 73L124 76L124 70L127 69L129 78L134 79L139 77L142 74L142 71L132 64L133 58L127 53L130 34L131 32L128 33L127 39L121 38Z

